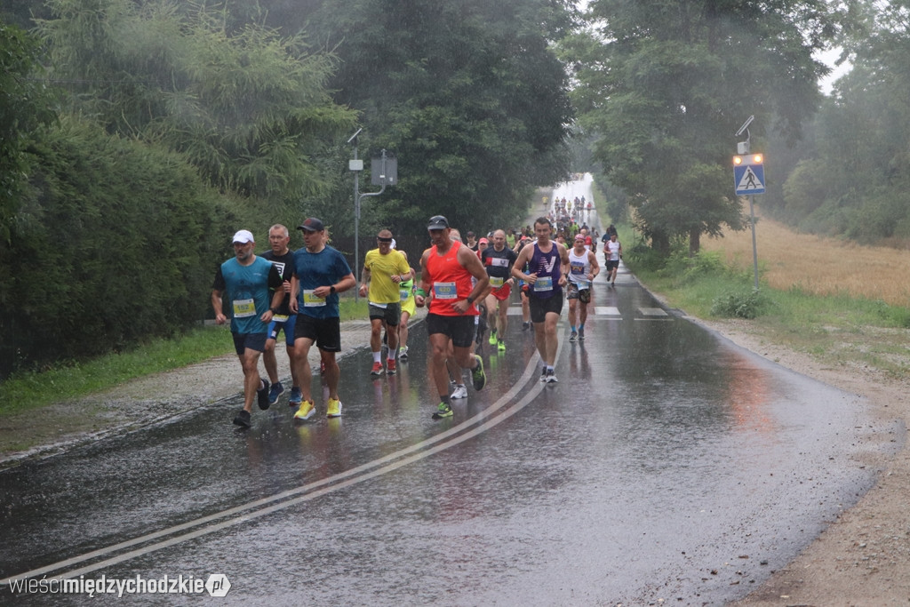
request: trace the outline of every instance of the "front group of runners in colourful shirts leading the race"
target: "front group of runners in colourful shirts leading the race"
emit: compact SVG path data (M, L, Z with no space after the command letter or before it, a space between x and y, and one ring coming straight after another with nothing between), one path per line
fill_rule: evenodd
M341 415L336 360L341 349L339 293L357 288L357 279L344 256L329 246L321 220L308 218L298 229L303 233L303 248L290 250L288 228L275 225L268 231L268 250L259 256L253 251L252 233L239 230L233 238L235 256L217 269L212 307L218 324L228 321L225 303L231 311L231 332L244 374L244 406L234 418L241 427L251 426L254 401L267 410L285 391L275 355L282 331L291 369L288 405L294 419L307 421L316 415L308 362L314 345L329 388L325 414ZM541 217L534 222L533 239L525 235L509 247L506 232L498 229L490 238L481 238L487 246L475 251L461 242L460 232L441 215L430 218L427 230L431 246L420 258L419 284L415 284L418 272L395 247L389 230L379 231L377 247L364 258L359 294L369 300L370 374L394 375L398 361L408 359L408 321L417 307L427 306L430 378L440 398L432 417L450 418L452 400L467 396L462 369L470 371L475 390L486 384L483 359L474 351L475 342L483 338L481 327L489 327L490 345L501 352L506 349L508 309L517 282L522 329L533 327L542 361L541 381L555 384L557 322L563 299L569 301L570 340L584 339L591 282L600 273L590 236L580 233L567 248L553 239L551 219ZM622 248L615 235L604 245L612 281L614 250L618 265ZM486 314L484 323L480 323L481 313ZM383 341L388 347L384 360ZM259 375L260 356L268 379Z

